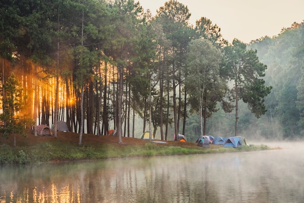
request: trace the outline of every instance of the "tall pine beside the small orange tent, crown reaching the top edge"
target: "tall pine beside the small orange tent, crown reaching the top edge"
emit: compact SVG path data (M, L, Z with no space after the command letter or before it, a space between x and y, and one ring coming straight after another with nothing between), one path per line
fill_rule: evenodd
M122 102L126 70L134 66L140 52L141 24L144 22L143 9L134 0L116 0L112 19L115 32L111 33L105 47L105 54L111 57L117 67L118 86L116 104L116 124L118 142L122 142Z

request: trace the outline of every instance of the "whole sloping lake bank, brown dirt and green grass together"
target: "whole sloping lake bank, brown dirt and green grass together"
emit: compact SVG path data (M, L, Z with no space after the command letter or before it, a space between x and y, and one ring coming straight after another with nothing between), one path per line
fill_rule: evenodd
M122 137L123 143L119 144L117 136L84 134L83 144L79 146L79 135L76 133L58 132L57 137L34 136L28 133L26 136L16 135L14 147L14 135L7 139L0 136L0 164L269 150L266 145L247 145L238 148L210 145L205 148L197 146L194 142L154 141L161 143Z

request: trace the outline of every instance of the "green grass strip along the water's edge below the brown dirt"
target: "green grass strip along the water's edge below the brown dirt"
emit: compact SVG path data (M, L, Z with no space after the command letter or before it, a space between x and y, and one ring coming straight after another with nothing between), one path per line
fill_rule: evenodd
M51 161L94 160L126 157L149 157L163 155L251 152L270 150L266 145L246 145L237 148L184 148L162 146L153 143L135 146L118 146L104 144L101 146L78 146L70 143L45 142L32 147L11 147L0 145L0 164L26 164Z

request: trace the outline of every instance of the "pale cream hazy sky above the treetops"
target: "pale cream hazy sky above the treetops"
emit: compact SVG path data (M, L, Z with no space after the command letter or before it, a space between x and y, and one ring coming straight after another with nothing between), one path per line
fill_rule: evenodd
M135 0L155 16L156 10L169 0ZM263 36L280 34L293 22L304 20L304 0L178 0L191 13L190 24L206 17L217 24L223 38L249 43Z

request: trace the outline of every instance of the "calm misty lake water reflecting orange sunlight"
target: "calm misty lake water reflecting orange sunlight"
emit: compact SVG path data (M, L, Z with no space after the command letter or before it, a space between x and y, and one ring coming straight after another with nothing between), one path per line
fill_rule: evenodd
M0 203L303 203L304 145L0 167Z

